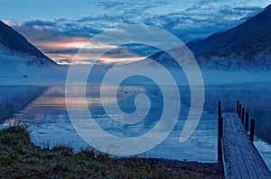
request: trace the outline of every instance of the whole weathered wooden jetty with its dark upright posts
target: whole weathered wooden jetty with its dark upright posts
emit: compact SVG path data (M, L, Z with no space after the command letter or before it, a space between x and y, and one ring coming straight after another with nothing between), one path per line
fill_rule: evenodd
M223 162L225 178L271 178L264 159L253 144L255 121L248 136L248 112L237 103L237 112L221 112L219 102L218 157ZM245 126L244 126L245 125Z

